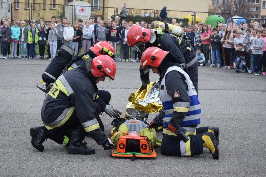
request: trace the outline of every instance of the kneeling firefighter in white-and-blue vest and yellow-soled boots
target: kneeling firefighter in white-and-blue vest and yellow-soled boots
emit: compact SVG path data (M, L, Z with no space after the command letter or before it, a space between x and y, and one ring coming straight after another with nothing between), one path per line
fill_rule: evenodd
M188 74L174 61L175 56L171 52L157 47L150 47L142 54L144 73L152 69L160 76L159 94L164 106L149 127L164 127L161 153L165 156L200 155L203 154L203 147L207 147L213 158L219 159L218 143L215 142L219 128L203 127L197 130L201 113L197 92ZM182 141L180 131L187 136L186 141Z

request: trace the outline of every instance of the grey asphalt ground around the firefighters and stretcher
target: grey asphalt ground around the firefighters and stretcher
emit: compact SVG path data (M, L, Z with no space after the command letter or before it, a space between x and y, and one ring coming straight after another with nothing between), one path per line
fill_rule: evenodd
M30 128L43 126L40 112L45 94L36 86L49 60L0 59L0 176L265 176L266 76L199 67L202 126L220 128L219 160L207 148L203 155L156 158L110 157L91 137L94 155L71 155L48 139L40 152L31 145ZM131 92L141 85L139 62L116 62L114 81L100 82L111 93L111 105L124 111ZM150 74L156 81L157 74ZM82 84L82 83L81 83ZM156 116L150 114L148 122ZM112 118L101 115L110 136ZM157 133L162 139L162 133Z

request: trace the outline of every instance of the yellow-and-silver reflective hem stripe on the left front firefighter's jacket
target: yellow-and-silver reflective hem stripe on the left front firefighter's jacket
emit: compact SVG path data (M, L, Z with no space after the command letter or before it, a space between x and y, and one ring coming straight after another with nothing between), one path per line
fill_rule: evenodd
M74 106L72 106L70 108L66 108L66 109L64 109L62 114L54 122L43 123L43 124L46 125L46 128L48 130L50 130L52 128L60 127L70 118L70 116L72 115L74 110L75 110Z

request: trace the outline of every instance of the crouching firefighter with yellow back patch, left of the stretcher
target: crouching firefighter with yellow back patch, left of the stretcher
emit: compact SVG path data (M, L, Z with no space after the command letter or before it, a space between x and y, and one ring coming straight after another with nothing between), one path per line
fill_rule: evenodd
M86 60L84 65L61 75L48 92L41 110L45 126L30 129L32 146L39 151L44 150L42 143L49 138L68 147L68 153L94 154L95 149L82 142L86 133L104 150L114 146L100 129L95 117L100 114L100 106L93 100L100 81L114 80L116 64L107 55Z

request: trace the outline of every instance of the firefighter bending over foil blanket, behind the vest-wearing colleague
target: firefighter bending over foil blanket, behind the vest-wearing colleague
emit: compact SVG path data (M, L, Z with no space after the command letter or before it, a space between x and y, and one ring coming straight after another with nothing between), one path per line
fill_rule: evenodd
M146 29L137 25L128 30L126 37L129 47L133 50L137 48L140 52L144 52L148 47L155 46L164 51L172 52L176 57L175 63L179 63L188 73L198 93L198 61L196 52L184 40L169 33L157 34L155 29ZM144 87L150 82L149 73L143 73L141 66L140 80Z

